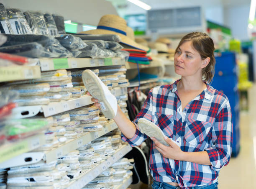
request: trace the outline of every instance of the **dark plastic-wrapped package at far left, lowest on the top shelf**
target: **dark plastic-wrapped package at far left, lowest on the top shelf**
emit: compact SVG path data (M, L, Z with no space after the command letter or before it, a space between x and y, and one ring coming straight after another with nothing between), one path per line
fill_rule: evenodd
M0 52L15 54L19 56L26 56L30 58L58 58L59 57L59 54L48 51L41 44L36 42L0 47Z

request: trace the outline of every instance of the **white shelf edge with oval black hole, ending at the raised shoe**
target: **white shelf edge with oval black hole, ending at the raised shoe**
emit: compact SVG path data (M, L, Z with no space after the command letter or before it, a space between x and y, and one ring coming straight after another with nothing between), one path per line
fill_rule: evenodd
M44 112L44 117L49 117L58 113L62 113L68 110L72 110L78 107L90 105L92 97L84 95L80 98L73 98L68 101L51 102L48 105L37 105L37 106L20 106L16 107L12 111L13 118L26 118L32 117L39 112Z

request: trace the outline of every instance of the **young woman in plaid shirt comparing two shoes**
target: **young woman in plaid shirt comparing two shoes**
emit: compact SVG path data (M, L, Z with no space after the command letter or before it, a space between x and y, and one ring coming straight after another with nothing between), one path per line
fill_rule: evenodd
M166 135L169 146L151 138L153 189L218 188L219 171L230 160L232 121L228 98L207 83L214 74L213 52L213 41L207 34L187 34L174 57L175 72L182 78L151 89L133 122L120 107L113 118L123 133L122 140L131 146L148 138L136 125L142 117ZM92 101L100 107L97 99Z

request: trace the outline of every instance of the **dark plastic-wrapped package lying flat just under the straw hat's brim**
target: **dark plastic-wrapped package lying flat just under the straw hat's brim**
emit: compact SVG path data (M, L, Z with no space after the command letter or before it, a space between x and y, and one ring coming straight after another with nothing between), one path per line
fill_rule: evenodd
M90 34L82 34L78 33L74 36L81 38L82 40L103 40L103 41L115 41L120 42L121 38L118 35L114 34L98 34L98 35L90 35Z

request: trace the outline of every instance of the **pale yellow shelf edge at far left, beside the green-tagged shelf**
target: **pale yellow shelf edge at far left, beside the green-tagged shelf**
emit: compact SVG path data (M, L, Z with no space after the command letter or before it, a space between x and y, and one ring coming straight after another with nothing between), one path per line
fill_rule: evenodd
M0 66L0 82L36 79L40 77L40 66Z

